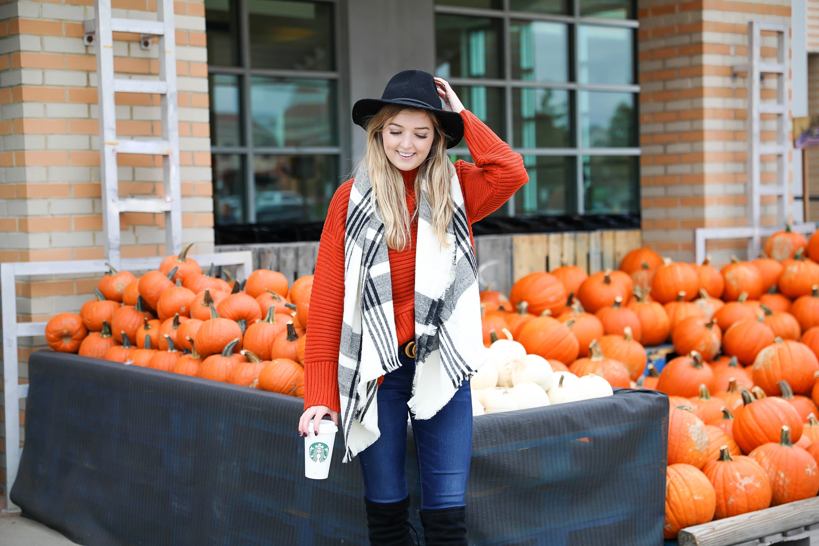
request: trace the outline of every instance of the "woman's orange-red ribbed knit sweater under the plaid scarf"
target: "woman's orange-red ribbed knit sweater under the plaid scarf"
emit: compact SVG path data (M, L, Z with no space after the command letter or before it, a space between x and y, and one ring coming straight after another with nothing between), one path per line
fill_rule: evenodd
M462 111L464 138L474 164L455 162L455 171L472 223L503 205L529 177L523 158L514 153L491 129L471 112ZM416 170L403 172L409 214L415 210ZM344 310L344 230L352 180L336 190L321 233L310 296L310 336L305 347L305 408L324 405L341 411L338 399L338 346L342 338ZM389 250L392 305L395 309L398 343L415 336L415 242L417 221L412 225L412 244L401 252ZM474 243L473 243L474 245Z

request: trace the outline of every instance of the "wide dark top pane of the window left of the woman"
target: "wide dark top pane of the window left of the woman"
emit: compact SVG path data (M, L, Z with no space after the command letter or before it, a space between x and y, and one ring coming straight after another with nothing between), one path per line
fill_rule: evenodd
M333 4L247 0L251 66L335 70Z

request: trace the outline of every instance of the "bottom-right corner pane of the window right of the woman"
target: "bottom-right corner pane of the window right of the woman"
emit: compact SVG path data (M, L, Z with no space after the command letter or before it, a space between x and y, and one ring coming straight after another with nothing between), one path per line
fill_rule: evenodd
M636 156L584 156L586 214L627 214L640 210Z

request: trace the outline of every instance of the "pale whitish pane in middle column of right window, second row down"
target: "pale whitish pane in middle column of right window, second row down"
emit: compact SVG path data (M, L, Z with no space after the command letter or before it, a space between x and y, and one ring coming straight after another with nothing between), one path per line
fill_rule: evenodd
M568 82L568 25L513 20L509 42L513 79Z

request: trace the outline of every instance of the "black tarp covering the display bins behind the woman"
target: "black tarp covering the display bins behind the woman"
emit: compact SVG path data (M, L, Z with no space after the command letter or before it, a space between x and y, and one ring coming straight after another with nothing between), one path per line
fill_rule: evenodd
M340 438L330 478L304 477L301 399L50 351L29 381L11 499L79 544L368 544ZM663 544L667 414L617 390L475 417L470 544Z

